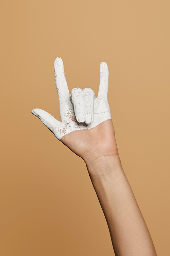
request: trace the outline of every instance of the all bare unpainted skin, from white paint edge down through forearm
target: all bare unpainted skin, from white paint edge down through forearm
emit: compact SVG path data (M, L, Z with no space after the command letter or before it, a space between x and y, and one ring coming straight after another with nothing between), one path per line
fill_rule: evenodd
M61 141L86 163L105 215L116 256L157 256L149 230L123 171L112 119Z

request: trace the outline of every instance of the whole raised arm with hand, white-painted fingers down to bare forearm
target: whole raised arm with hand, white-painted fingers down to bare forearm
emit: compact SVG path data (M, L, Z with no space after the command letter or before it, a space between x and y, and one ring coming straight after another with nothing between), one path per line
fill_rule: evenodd
M69 95L61 58L54 62L61 122L44 110L32 113L86 163L104 212L116 256L156 256L149 230L126 179L107 101L108 68L100 63L98 97L90 88Z

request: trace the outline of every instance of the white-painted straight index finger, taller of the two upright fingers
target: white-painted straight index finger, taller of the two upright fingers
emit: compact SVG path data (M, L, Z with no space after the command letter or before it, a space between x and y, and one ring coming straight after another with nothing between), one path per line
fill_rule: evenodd
M64 73L64 65L61 57L54 61L55 85L58 93L59 102L62 103L70 99L70 93Z

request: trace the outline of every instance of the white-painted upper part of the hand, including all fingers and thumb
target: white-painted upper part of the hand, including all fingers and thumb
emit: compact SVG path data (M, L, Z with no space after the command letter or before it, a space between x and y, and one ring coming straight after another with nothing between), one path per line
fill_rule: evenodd
M57 57L54 61L55 84L59 97L61 122L42 109L33 109L32 114L39 117L61 140L66 134L76 130L89 130L111 119L108 92L108 67L106 62L100 63L100 84L97 98L91 88L74 88L69 94L63 61Z

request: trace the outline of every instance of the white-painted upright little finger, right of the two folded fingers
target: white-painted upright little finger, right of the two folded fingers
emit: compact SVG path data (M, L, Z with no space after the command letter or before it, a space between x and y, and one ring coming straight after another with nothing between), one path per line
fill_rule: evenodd
M100 84L97 98L107 101L108 93L108 67L106 62L100 63Z

